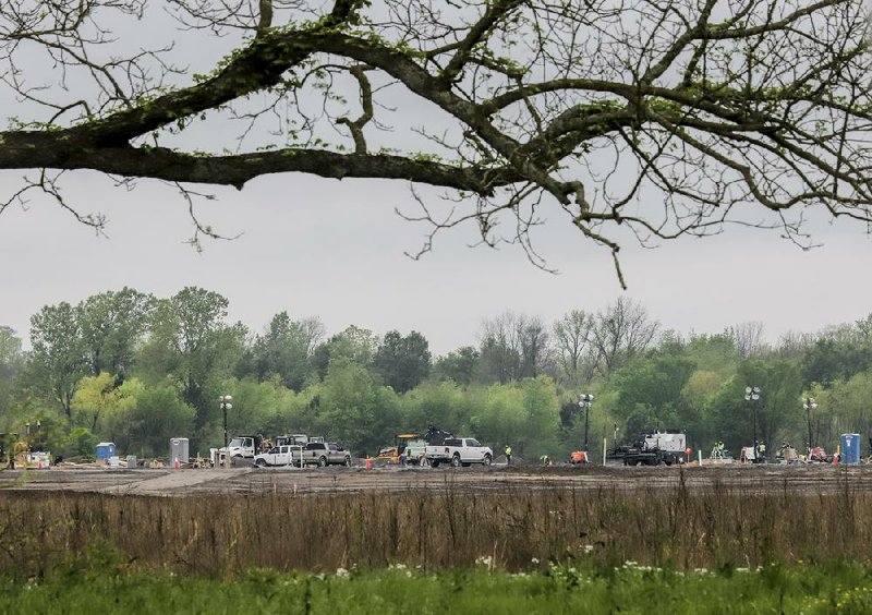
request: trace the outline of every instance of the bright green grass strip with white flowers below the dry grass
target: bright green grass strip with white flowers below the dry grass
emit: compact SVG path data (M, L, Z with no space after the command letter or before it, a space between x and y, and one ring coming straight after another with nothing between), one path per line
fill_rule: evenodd
M497 572L484 564L424 572L393 567L331 575L253 569L233 580L125 572L102 562L49 579L0 581L3 613L856 613L872 611L857 565L664 571L552 566Z

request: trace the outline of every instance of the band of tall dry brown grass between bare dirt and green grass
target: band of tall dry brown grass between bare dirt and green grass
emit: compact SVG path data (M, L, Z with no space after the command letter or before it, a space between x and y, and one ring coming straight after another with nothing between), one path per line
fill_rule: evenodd
M484 558L510 570L538 560L626 560L677 568L772 560L872 562L872 494L788 489L530 489L320 495L143 497L0 492L0 574L41 576L69 554L110 550L179 574L251 567L438 568Z

